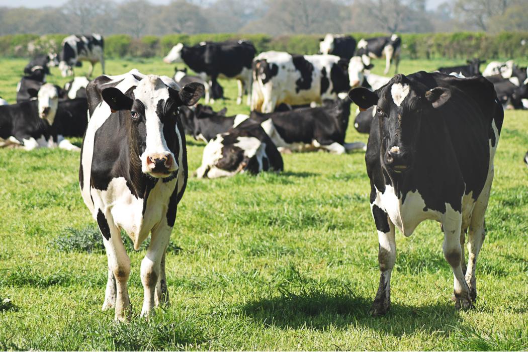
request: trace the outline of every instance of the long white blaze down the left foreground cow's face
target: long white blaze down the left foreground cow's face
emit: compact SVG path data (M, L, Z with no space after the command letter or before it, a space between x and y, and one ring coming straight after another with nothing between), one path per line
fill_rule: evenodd
M134 89L134 97L141 101L145 106L145 128L146 128L146 146L144 153L140 156L142 161L142 171L150 171L147 163L147 157L150 155L168 155L172 158L171 165L174 171L178 167L174 154L167 147L167 142L163 135L163 123L156 113L157 104L160 100L167 101L169 98L167 85L155 75L148 75L142 79Z

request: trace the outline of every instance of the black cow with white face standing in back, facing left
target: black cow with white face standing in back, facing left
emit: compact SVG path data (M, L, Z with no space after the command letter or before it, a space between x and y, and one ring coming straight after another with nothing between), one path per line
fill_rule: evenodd
M251 88L251 62L256 49L250 42L202 42L194 46L176 44L163 58L166 63L184 62L204 81L217 84L217 79L236 79L238 82L237 104L242 103L242 94ZM248 94L249 101L249 94ZM248 102L249 104L249 102Z

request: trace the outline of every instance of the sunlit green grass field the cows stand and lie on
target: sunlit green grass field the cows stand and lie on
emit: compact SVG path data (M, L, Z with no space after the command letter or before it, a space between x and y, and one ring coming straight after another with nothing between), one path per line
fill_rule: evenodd
M10 102L25 63L0 60L0 96ZM452 63L403 60L401 71ZM173 67L109 60L107 73ZM52 71L49 81L66 81ZM215 109L248 112L234 104L236 84L221 83L232 99ZM346 139L367 136L351 124ZM203 146L188 138L191 170ZM425 222L411 237L397 234L392 308L370 317L378 240L364 153L312 153L284 155L279 175L190 179L167 256L172 306L123 325L100 310L107 260L80 196L79 154L0 150L0 297L10 300L0 299L0 349L526 350L527 148L528 112L506 111L472 311L455 310L443 235ZM145 250L129 254L137 315Z

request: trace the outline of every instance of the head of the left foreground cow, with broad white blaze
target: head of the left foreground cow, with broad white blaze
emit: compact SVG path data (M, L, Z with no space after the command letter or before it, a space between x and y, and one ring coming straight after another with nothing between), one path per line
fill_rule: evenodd
M160 77L148 75L126 93L117 88L101 92L111 111L125 117L131 155L139 155L142 172L152 177L168 177L178 169L175 154L181 152L184 138L176 127L178 107L195 104L204 92L200 83L181 91L172 83L168 87Z

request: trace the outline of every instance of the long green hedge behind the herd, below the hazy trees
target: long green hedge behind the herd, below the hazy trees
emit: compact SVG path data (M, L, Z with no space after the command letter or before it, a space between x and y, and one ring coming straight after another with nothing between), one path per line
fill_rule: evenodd
M382 33L351 33L356 40L362 37L383 35ZM17 34L0 36L0 56L26 57L49 50L60 49L65 34ZM109 58L126 56L149 58L164 56L177 43L194 45L202 41L225 41L246 39L256 46L257 52L267 50L288 51L298 54L315 54L319 39L323 35L282 35L271 37L266 34L168 34L161 37L147 35L133 39L126 34L105 37L105 54ZM519 58L528 54L528 32L503 32L490 35L479 32L401 34L403 58L408 59L466 59L480 57L487 60L497 58ZM30 50L31 49L31 50Z

